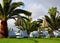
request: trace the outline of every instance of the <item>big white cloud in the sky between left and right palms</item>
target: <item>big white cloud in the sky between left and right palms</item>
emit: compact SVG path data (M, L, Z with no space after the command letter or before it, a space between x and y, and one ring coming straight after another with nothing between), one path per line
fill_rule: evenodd
M32 18L33 19L37 19L37 18L41 18L46 11L46 8L42 5L42 4L37 4L37 3L33 3L33 4L30 4L28 7L27 7L27 10L31 11L32 12Z

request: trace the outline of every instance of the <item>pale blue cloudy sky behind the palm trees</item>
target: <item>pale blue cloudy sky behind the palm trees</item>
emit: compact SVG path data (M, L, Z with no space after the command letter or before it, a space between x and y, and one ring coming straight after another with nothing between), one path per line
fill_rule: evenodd
M57 7L60 11L60 0L13 0L13 2L19 1L25 4L24 7L21 7L22 9L32 12L33 20L44 17L51 7ZM13 27L14 22L14 20L8 20L8 26Z

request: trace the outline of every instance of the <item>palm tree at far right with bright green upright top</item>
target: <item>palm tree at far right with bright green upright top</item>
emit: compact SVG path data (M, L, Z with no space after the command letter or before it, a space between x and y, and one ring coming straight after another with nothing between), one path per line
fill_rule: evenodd
M45 19L48 26L51 28L51 31L49 32L52 33L53 30L58 30L58 28L60 28L60 15L56 7L49 9L48 13L49 16L45 15Z

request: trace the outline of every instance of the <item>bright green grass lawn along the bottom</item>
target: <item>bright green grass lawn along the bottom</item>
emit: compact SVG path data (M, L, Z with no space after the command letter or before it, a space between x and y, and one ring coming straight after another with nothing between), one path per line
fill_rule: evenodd
M60 43L60 38L2 38L0 43Z

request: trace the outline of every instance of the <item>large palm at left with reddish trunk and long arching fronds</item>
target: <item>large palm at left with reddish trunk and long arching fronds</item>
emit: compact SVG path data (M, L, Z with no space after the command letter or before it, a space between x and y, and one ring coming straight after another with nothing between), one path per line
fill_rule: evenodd
M1 20L1 28L0 28L0 38L8 37L8 27L7 20L9 18L14 19L14 15L23 13L25 15L30 16L31 13L22 9L16 9L19 6L24 5L23 2L14 2L11 3L12 0L2 0L2 4L0 4L0 20Z

